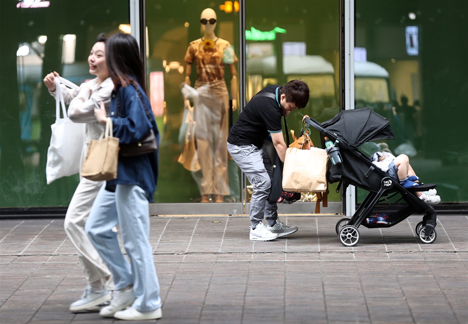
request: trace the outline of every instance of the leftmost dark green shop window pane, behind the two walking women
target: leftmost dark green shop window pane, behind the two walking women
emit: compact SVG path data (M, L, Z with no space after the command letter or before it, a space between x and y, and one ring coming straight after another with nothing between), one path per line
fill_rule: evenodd
M44 76L80 85L96 36L128 24L127 0L0 1L0 207L68 206L78 175L46 184L55 99Z

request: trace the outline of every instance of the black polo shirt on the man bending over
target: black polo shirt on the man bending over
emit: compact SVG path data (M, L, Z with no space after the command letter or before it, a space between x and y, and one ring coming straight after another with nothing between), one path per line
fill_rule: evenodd
M260 96L252 98L244 107L237 123L231 127L227 142L233 145L255 145L261 147L269 133L282 132L281 108L279 105L280 86L271 85L258 93L270 92L277 100Z

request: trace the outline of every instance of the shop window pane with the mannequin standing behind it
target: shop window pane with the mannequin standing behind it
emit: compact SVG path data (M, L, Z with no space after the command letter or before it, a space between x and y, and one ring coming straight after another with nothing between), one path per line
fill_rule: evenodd
M211 18L212 43L205 39ZM210 202L239 202L240 171L226 147L239 115L238 107L232 114L228 109L239 91L237 75L233 79L239 74L239 2L146 0L146 25L150 95L162 107L155 113L161 142L154 201L200 202L206 195Z

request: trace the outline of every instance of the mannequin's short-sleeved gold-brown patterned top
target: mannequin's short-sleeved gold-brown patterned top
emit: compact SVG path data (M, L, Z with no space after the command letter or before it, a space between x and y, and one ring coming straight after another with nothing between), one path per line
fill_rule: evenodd
M208 41L208 43L207 43ZM223 53L227 46L231 46L227 40L215 38L210 40L198 38L189 44L184 61L197 64L197 81L212 82L224 80ZM234 54L234 63L238 61Z

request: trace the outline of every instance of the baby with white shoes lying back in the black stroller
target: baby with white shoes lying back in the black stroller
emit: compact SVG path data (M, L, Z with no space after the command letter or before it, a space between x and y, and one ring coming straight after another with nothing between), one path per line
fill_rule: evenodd
M388 176L398 180L403 188L412 188L419 186L419 177L417 177L413 168L409 164L409 157L404 154L395 155L390 152L375 152L371 156L371 161L378 168L385 171ZM429 191L416 191L415 195L429 205L437 205L440 197L435 189Z

